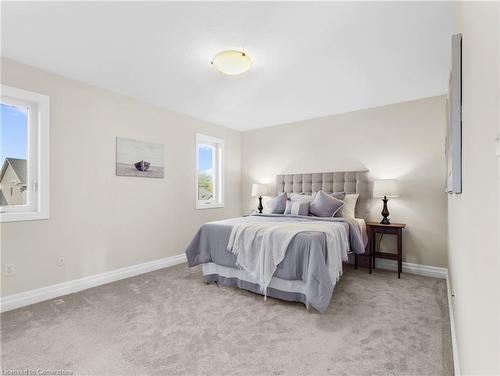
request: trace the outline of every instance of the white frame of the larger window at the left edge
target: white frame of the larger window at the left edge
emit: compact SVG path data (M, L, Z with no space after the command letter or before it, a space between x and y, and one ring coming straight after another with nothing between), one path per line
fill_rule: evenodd
M49 218L49 120L47 95L0 85L0 102L28 108L27 203L0 207L0 222Z

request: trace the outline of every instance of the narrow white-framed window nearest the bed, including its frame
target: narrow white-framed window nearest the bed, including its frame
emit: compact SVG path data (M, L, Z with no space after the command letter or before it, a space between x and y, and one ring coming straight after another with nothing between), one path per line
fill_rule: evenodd
M196 135L196 208L224 207L224 140Z

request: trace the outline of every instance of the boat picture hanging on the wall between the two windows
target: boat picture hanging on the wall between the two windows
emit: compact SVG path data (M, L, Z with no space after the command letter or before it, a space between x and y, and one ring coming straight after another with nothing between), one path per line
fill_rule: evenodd
M164 146L152 142L116 138L116 175L164 177Z

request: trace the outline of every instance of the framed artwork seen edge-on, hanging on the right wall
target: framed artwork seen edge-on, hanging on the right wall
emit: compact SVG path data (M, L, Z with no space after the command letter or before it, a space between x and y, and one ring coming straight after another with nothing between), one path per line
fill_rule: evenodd
M446 192L462 193L462 34L451 37L446 107Z

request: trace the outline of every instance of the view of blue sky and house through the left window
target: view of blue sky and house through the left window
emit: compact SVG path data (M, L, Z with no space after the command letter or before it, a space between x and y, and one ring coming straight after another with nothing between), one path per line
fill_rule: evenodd
M0 206L27 203L28 109L0 103Z

